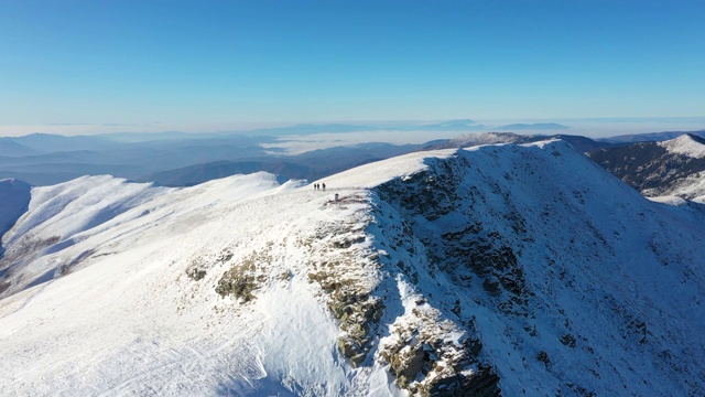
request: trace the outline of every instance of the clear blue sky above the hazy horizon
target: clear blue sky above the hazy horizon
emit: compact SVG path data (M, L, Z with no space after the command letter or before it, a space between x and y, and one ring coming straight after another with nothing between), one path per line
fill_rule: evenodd
M0 0L0 126L703 117L704 21L702 0Z

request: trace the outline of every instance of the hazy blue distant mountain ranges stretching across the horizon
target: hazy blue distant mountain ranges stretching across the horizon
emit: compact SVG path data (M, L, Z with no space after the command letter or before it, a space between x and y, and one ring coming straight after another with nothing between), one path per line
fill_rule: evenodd
M567 127L554 122L491 127L477 124L471 119L457 119L420 126L295 125L217 133L169 131L78 137L33 133L17 138L0 138L0 179L15 178L34 185L50 185L82 175L111 174L135 181L183 186L234 173L259 170L278 173L282 179L314 180L367 162L434 148L562 139L581 152L590 152L600 148L629 144L633 141L671 139L685 133L654 132L603 139L563 133L478 133L492 128L498 131L550 131ZM410 146L341 144L337 148L310 151L299 155L289 155L283 144L288 139L292 139L291 136L356 131L379 131L380 133L383 131L440 131L447 132L449 137L456 137ZM692 135L705 136L705 131L694 131Z

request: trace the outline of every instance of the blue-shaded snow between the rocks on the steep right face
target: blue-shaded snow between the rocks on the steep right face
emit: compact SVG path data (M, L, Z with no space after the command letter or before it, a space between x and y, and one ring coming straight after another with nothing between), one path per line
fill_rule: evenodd
M579 395L573 385L597 395L622 389L626 395L666 395L671 387L687 394L685 385L703 374L698 362L705 354L698 336L705 325L699 307L705 282L702 207L652 204L560 141L473 148L451 160L441 170L457 169L449 179L466 204L457 211L448 204L437 219L429 219L410 210L413 195L403 196L400 207L380 210L394 215L386 222L379 217L379 227L390 240L408 242L388 249L390 262L413 264L403 260L403 250L422 249L440 249L433 257L443 260L453 243L438 248L446 244L442 235L475 225L488 233L489 242L511 247L524 264L517 273L531 293L521 298L525 309L519 307L527 313L518 315L499 310L498 298L484 292L477 273L464 285L463 257L448 264L447 276L438 275L443 265L417 258L412 265L420 275L419 289L434 297L429 301L435 308L445 308L454 319L448 311L460 301L457 323L475 322L503 393ZM437 190L434 179L433 173L417 179L419 189L406 185L413 179L401 179L394 192L417 193L423 185ZM444 195L440 193L440 203ZM402 223L426 243L420 247L408 232L394 236ZM482 244L490 243L469 240L457 249ZM436 275L424 279L430 268ZM501 297L499 303L511 302ZM636 336L641 321L643 346ZM681 353L672 361L663 352ZM540 354L551 364L538 361ZM688 365L692 372L683 376ZM698 389L693 387L690 393Z

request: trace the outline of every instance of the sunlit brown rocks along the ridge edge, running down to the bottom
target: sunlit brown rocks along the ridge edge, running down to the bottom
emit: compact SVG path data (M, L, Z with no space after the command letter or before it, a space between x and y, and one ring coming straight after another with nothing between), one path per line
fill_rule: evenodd
M434 184L426 174L412 180ZM459 197L453 196L454 190L457 186L437 184L426 190L426 198L416 200L410 194L405 205L424 205L438 218L457 208ZM362 198L345 197L337 205L365 202ZM435 202L448 207L425 206ZM340 323L338 351L356 367L376 362L387 365L397 385L414 396L498 396L499 376L479 360L482 344L474 326L458 325L422 293L413 292L412 286L411 294L402 300L414 303L399 308L390 290L400 288L400 282L404 286L403 280L417 271L412 270L411 262L391 262L386 247L376 243L379 210L360 210L350 223L321 224L317 236L300 242L312 258L319 258L308 264L307 277L321 287L330 313ZM386 230L384 237L400 243L405 238L394 230Z

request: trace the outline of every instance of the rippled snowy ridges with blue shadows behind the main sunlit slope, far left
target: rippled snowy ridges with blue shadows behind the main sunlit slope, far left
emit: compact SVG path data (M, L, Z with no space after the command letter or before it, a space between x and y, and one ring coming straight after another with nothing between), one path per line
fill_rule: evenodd
M29 211L2 239L8 250L0 270L7 270L6 283L11 286L0 297L85 266L98 247L124 246L160 232L185 229L208 208L276 186L274 175L256 173L181 190L110 175L33 187Z

